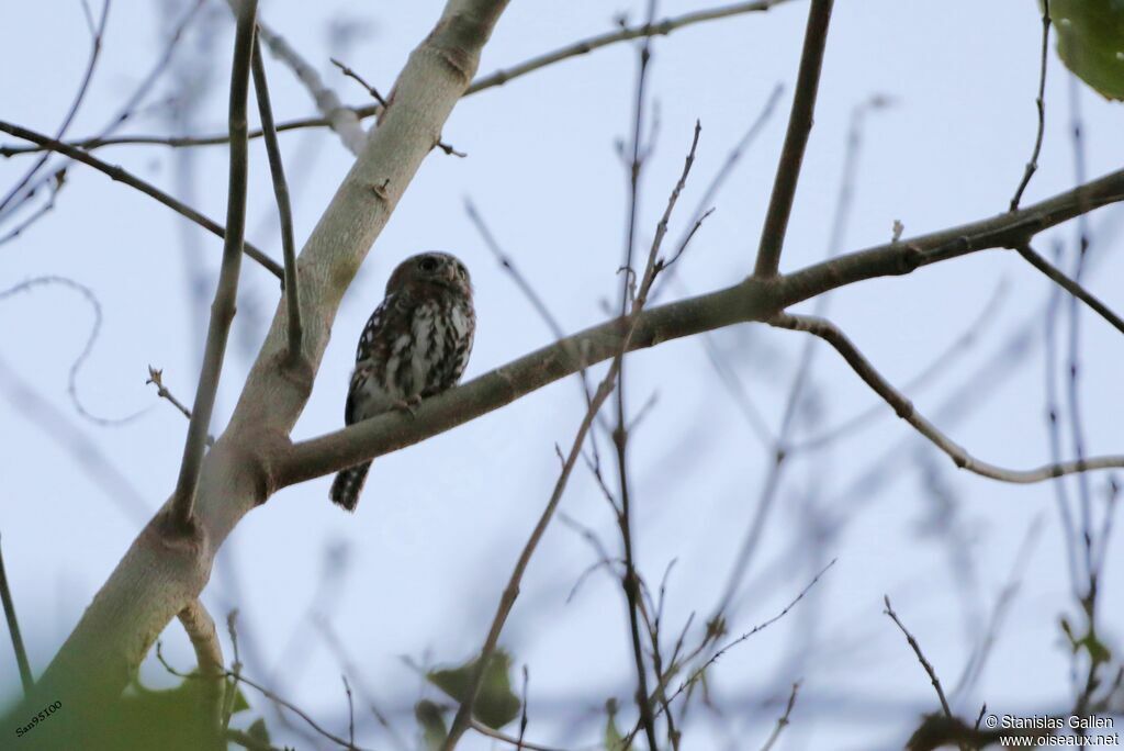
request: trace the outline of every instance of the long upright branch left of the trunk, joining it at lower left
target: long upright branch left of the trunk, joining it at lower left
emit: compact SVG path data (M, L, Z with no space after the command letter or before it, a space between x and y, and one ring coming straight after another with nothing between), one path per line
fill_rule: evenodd
M171 500L171 518L180 530L191 530L192 507L199 472L203 461L207 432L215 396L223 372L226 340L234 320L235 300L238 295L238 272L242 268L242 241L246 228L246 173L248 143L246 139L246 99L250 93L250 69L254 52L254 21L257 0L243 0L238 9L234 42L234 63L230 72L230 178L227 190L226 226L223 243L223 265L219 270L211 318L207 329L203 365L199 373L191 423L183 445L180 477Z

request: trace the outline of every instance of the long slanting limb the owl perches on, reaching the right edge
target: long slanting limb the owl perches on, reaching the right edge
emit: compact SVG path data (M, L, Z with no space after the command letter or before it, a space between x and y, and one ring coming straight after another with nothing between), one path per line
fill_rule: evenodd
M762 281L651 308L641 314L629 343L641 350L669 340L768 316L832 289L865 279L910 273L960 255L1017 247L1037 232L1082 211L1124 200L1124 170L1014 212L858 251ZM388 414L282 446L275 487L303 482L397 451L508 405L519 397L614 356L619 318L592 326L426 399L416 417ZM572 353L581 353L581 358Z

